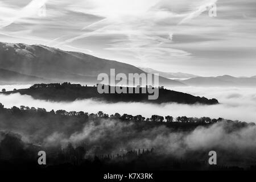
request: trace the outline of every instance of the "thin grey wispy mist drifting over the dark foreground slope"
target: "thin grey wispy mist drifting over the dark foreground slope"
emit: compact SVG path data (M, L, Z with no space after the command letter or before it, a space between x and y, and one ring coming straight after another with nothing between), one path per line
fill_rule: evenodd
M183 156L189 151L210 151L214 148L247 152L256 150L256 126L234 129L232 124L221 122L187 132L172 131L166 126L156 126L138 132L134 125L112 119L102 119L100 123L90 121L80 132L75 132L67 138L56 132L48 136L44 143L49 145L85 142L87 146L102 146L104 152L110 153L119 152L121 148L156 148L160 154L176 156Z

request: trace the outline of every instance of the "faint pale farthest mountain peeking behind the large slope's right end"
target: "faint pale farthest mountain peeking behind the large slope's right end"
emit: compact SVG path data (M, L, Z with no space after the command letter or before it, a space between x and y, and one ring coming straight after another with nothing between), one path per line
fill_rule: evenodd
M188 73L181 73L181 72L177 72L177 73L171 73L171 72L160 72L157 71L155 69L151 69L151 68L141 68L144 72L147 73L158 73L159 76L162 77L166 77L166 78L193 78L193 77L198 77L197 75L192 75L192 74L188 74Z

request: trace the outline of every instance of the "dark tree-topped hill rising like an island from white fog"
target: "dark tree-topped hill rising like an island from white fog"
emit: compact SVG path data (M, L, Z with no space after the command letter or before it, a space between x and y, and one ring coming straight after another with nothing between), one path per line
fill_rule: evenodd
M214 98L208 99L205 97L196 97L187 93L167 89L159 89L159 97L157 100L148 100L148 93L100 94L97 91L97 86L81 86L80 84L70 84L67 82L63 84L35 84L28 89L19 89L4 93L26 94L35 99L51 101L75 101L93 98L94 100L106 102L149 102L154 104L176 102L179 104L218 104L218 101Z

